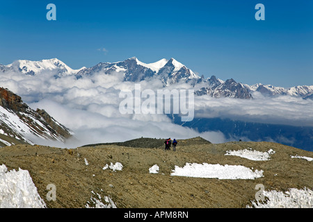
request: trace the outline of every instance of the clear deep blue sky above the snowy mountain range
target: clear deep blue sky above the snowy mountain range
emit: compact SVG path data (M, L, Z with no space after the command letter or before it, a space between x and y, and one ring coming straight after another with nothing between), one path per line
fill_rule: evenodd
M48 21L48 3L56 21ZM265 20L255 19L255 5ZM1 1L0 64L58 58L73 69L175 58L205 77L313 85L313 1ZM99 50L99 49L105 49Z

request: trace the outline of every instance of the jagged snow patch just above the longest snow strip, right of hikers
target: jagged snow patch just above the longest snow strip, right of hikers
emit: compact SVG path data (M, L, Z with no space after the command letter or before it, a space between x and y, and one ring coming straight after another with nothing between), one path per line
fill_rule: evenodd
M275 153L272 149L267 152L260 152L250 149L244 149L239 151L226 151L225 155L236 155L239 157L246 158L248 160L255 160L255 161L265 161L270 160L271 154Z

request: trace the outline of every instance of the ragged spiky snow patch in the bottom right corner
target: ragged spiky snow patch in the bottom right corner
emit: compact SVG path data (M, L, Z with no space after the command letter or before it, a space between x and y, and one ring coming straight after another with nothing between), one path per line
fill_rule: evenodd
M312 189L291 188L286 193L282 191L263 191L265 200L251 201L255 208L312 208ZM251 208L251 206L248 206Z

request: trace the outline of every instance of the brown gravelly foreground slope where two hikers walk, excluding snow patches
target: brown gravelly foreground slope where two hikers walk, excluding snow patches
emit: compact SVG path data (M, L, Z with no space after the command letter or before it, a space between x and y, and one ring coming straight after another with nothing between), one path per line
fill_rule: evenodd
M266 191L309 189L313 186L312 162L291 156L313 157L312 152L270 142L228 142L211 144L197 137L179 139L177 151L138 148L158 144L158 139L136 139L122 144L102 144L74 149L15 145L0 149L0 164L9 170L28 170L47 207L90 207L109 196L116 207L152 208L242 208L251 205L264 185ZM138 144L138 145L136 145ZM225 155L227 151L249 149L275 151L265 161ZM106 164L122 164L122 171L104 169ZM217 179L172 176L175 166L189 163L241 165L264 171L261 178ZM149 173L154 164L159 173ZM47 185L56 186L56 200L47 200Z

